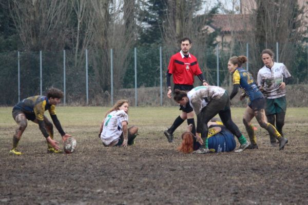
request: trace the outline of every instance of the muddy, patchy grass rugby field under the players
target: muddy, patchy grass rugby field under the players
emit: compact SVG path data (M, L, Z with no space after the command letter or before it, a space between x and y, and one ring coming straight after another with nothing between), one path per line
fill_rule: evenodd
M98 138L109 108L57 107L64 131L77 140L75 152L48 154L38 125L28 122L22 156L9 155L11 109L0 107L0 204L308 204L307 108L287 109L283 151L269 145L254 119L259 150L193 155L176 150L186 122L172 144L163 135L178 107L131 107L129 125L139 135L128 148L105 148ZM243 113L232 108L247 136Z

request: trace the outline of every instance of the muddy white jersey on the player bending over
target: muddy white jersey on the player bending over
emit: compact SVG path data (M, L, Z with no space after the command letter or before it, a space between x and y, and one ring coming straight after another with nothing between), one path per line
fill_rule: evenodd
M214 98L220 98L226 92L218 86L198 86L187 93L189 104L198 115L202 108Z

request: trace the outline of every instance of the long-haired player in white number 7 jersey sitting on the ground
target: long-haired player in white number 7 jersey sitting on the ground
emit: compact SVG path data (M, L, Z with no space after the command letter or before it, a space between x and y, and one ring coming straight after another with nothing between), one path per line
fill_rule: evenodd
M105 147L122 146L134 144L134 138L138 133L137 126L128 125L128 100L120 99L106 113L100 127L99 137Z

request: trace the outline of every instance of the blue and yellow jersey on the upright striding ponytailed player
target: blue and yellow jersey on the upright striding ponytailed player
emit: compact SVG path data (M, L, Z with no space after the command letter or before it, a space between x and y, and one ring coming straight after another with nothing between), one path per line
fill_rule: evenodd
M259 90L253 76L243 68L237 68L233 76L233 85L240 85L246 93L246 96L252 102L254 99L263 98L263 94Z

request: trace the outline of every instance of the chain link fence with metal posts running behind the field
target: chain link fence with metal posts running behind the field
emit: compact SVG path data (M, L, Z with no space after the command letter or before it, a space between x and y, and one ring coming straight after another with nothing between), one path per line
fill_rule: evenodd
M276 43L266 46L276 53L276 61L278 59L279 62L285 63L294 78L294 85L307 83L306 45L287 45L288 52L293 55L278 52L285 45ZM69 50L0 53L0 106L12 106L32 95L45 95L45 91L50 87L63 90L65 98L62 101L71 106L111 106L120 98L129 99L131 106L176 105L166 97L165 80L169 58L174 53L168 52L164 47L133 48L125 68L118 68L114 66L118 60L112 57L114 51L110 49L109 52L110 55L106 57L86 50L78 61L75 61L74 53ZM258 70L263 66L260 54L256 55L248 44L233 49L219 45L205 48L198 53L194 53L192 47L190 52L198 58L209 84L227 90L232 87L231 75L227 70L229 57L246 55L248 63L244 67L255 79ZM103 68L98 59L108 60L109 66ZM199 85L201 82L196 77L195 86Z

